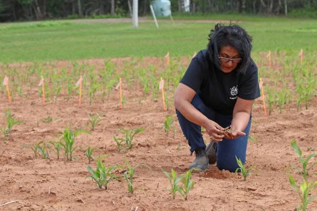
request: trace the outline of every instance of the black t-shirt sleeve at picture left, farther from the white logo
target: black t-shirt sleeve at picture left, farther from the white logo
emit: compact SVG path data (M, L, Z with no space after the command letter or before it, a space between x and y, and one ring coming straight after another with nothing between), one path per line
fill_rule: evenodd
M199 91L201 83L203 81L203 65L198 59L195 57L190 62L185 75L183 76L180 83L183 83L196 92Z

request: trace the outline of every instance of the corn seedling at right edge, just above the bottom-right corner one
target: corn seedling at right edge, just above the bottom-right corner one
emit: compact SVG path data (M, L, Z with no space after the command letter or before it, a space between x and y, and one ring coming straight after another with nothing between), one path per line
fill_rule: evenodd
M300 161L300 164L302 165L301 167L303 169L300 169L298 167L293 167L295 168L304 178L305 181L307 181L307 176L308 176L308 173L309 171L317 165L317 162L314 162L311 164L311 166L309 168L307 168L307 165L308 165L308 162L311 158L315 157L317 154L316 153L313 153L311 155L309 155L306 159L302 156L302 150L297 146L295 140L292 140L291 141L291 147L293 148L293 150L299 155L299 161Z

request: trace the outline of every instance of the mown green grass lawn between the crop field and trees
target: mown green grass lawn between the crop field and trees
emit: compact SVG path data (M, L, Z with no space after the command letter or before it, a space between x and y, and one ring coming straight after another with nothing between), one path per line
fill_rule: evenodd
M235 20L241 20L240 25L253 36L254 52L317 48L314 19L237 16ZM171 56L189 56L206 48L214 27L213 23L179 21L159 24L160 29L154 22L139 23L138 29L129 23L79 24L70 20L0 24L0 62L164 56L167 51Z

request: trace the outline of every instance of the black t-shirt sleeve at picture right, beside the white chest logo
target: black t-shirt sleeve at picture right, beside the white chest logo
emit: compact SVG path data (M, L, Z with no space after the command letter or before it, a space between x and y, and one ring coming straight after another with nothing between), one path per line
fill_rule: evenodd
M260 87L258 81L258 67L255 63L242 77L238 87L238 97L244 100L255 100L260 97Z

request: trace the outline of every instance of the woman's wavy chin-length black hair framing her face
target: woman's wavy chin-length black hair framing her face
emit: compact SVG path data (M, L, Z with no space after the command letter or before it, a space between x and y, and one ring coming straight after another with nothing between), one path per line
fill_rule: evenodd
M251 62L252 37L246 33L237 24L230 23L229 26L223 24L216 24L215 29L210 30L209 43L207 50L210 55L210 60L221 69L220 61L218 59L219 51L224 46L232 46L238 50L241 62L236 67L237 73L245 73L245 69Z

